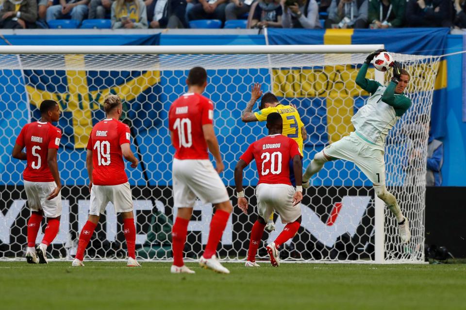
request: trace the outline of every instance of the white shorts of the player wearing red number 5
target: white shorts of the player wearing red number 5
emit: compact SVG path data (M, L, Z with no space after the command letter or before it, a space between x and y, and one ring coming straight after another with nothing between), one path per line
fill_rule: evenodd
M24 189L28 197L31 211L44 212L45 217L59 217L62 214L62 193L52 200L47 200L50 193L57 187L53 182L29 182L24 181Z

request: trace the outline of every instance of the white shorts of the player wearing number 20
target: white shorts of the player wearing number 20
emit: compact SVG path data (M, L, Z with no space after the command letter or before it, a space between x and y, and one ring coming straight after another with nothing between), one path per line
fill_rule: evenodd
M292 223L301 216L301 205L293 206L295 188L286 184L264 184L256 187L257 213L266 221L275 210L282 223Z

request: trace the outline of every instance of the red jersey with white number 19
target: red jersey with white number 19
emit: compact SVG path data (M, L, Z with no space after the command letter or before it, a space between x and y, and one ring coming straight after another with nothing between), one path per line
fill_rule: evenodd
M116 119L105 119L91 131L87 149L92 151L93 184L119 185L128 182L121 144L131 143L128 125Z

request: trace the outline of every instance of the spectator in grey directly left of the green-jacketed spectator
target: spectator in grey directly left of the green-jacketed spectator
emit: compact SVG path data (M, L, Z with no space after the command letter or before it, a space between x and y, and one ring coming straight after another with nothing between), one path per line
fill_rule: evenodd
M367 0L332 0L325 28L366 28Z

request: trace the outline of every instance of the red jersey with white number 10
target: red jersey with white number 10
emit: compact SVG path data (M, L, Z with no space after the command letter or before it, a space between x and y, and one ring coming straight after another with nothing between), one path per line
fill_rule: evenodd
M198 93L185 93L168 112L177 159L209 159L202 125L214 123L212 101Z

